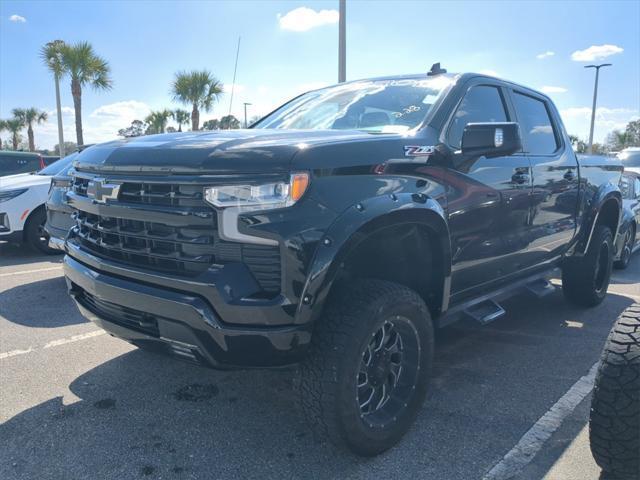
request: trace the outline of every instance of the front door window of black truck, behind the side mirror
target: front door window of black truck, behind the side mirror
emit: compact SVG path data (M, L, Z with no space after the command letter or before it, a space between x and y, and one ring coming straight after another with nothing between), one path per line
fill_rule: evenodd
M488 85L471 87L458 105L449 126L449 144L455 148L461 147L462 132L469 123L506 121L504 100L497 87Z

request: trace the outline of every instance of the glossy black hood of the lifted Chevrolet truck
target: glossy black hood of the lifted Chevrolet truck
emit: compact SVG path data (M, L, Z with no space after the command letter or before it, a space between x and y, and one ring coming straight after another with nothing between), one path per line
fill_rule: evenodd
M82 151L78 170L148 174L288 172L295 154L315 145L371 138L354 130L218 130L148 135Z

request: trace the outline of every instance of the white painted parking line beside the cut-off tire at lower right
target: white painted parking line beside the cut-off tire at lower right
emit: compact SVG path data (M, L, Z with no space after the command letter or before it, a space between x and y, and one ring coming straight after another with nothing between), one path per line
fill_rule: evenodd
M596 362L589 373L580 378L538 421L525 433L513 447L489 472L483 480L507 480L515 478L520 471L533 460L551 435L560 427L562 421L575 410L593 389L598 369Z

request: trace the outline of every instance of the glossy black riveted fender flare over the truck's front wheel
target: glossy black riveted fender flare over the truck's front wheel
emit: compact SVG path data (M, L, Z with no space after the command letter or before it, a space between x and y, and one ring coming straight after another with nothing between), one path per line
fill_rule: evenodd
M309 266L296 312L296 323L316 320L345 259L370 235L391 225L417 223L430 228L442 245L443 299L449 303L451 286L451 242L446 214L433 198L399 193L369 198L342 212L327 229Z

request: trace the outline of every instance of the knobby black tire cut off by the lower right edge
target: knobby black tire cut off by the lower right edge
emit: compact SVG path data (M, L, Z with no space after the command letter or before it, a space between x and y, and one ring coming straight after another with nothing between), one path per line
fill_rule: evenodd
M591 401L589 439L607 478L640 478L640 304L620 315L604 346Z

